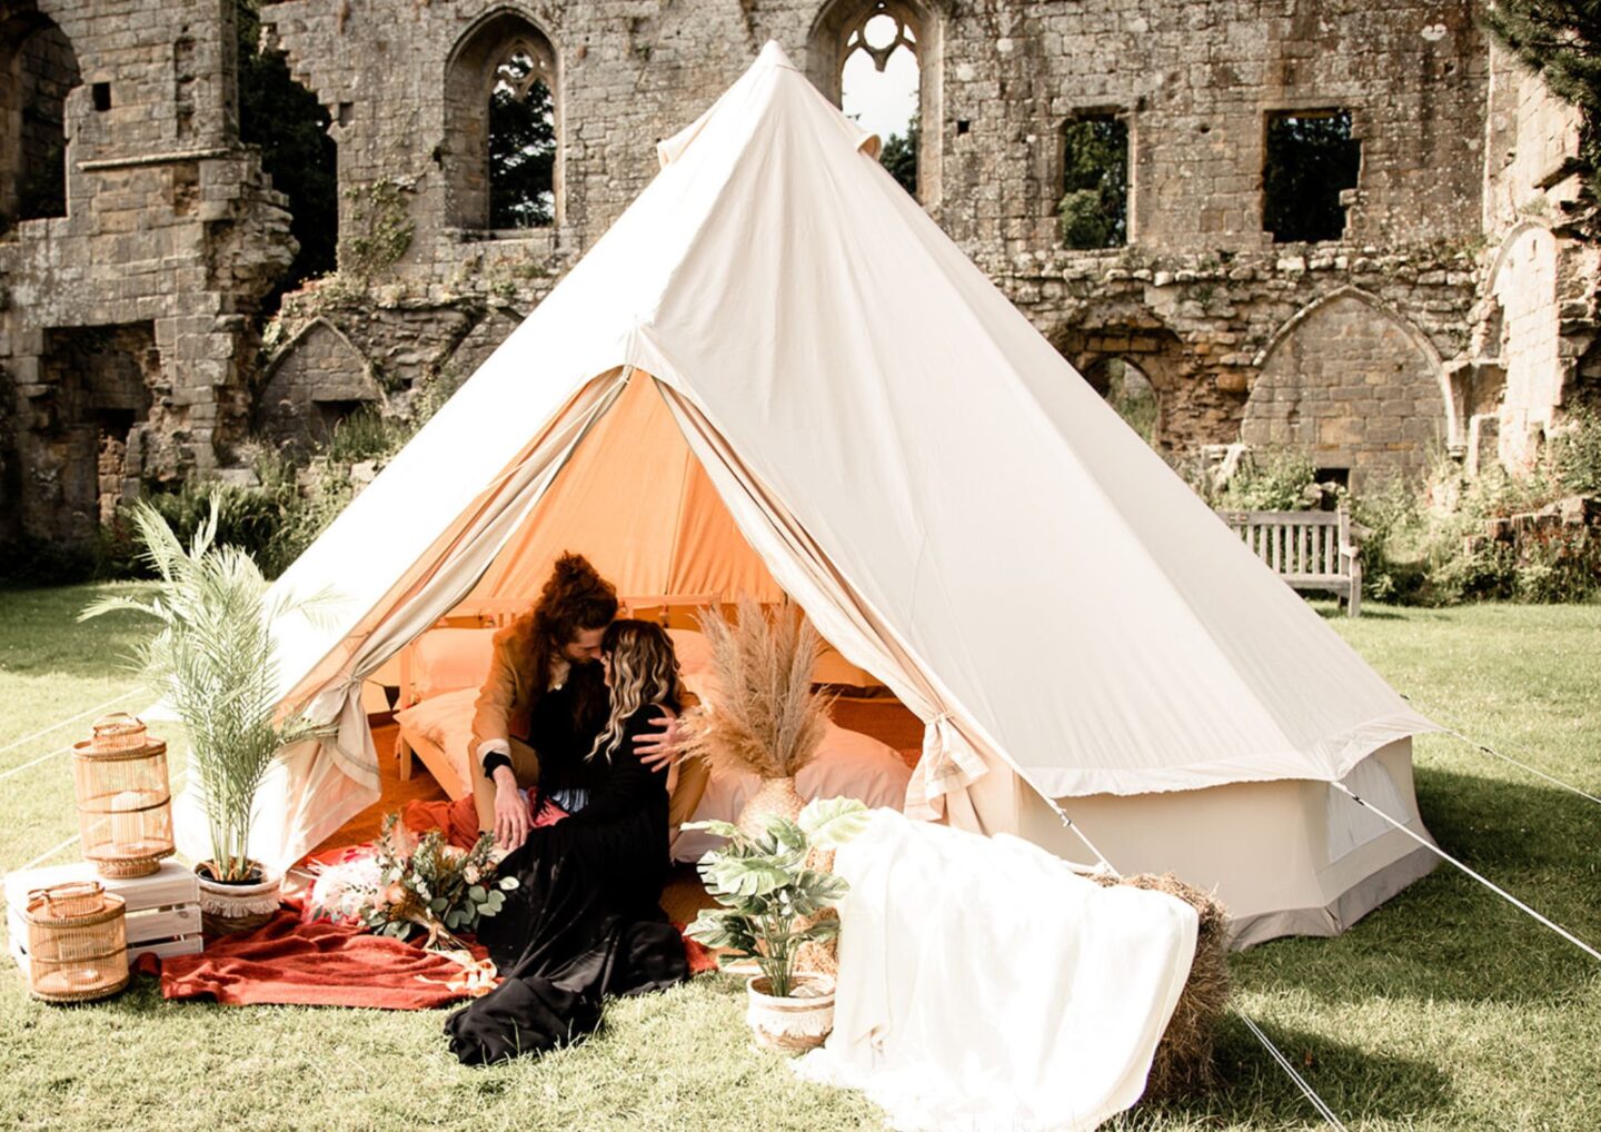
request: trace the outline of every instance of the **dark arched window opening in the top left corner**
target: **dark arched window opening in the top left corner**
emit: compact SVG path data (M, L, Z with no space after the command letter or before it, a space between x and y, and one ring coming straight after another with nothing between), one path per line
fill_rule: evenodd
M0 227L67 215L67 91L83 77L72 42L37 13L0 18Z

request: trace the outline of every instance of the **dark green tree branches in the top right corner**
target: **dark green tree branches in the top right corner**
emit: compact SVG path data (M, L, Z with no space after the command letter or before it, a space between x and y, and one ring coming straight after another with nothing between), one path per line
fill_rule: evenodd
M1486 30L1579 109L1579 160L1591 200L1601 199L1601 3L1495 0Z

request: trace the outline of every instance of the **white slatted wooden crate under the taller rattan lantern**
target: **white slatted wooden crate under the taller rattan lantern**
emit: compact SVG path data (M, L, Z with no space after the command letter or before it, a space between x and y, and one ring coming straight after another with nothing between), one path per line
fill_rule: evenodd
M150 876L102 877L88 861L53 865L5 879L6 935L11 957L27 973L27 893L67 881L99 881L106 892L126 901L128 962L146 953L157 956L200 954L200 884L192 869L162 861Z

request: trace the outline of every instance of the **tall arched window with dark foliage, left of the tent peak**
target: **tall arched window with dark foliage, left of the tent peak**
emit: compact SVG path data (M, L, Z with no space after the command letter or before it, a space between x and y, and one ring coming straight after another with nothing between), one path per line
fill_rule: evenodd
M437 151L453 226L519 232L560 223L556 59L551 40L509 11L467 32L453 53Z

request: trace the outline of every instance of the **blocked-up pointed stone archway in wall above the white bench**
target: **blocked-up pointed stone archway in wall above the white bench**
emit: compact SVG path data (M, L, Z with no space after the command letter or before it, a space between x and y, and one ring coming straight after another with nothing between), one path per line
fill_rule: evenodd
M1459 429L1438 351L1354 287L1295 312L1257 355L1241 440L1305 453L1353 488L1418 476Z

